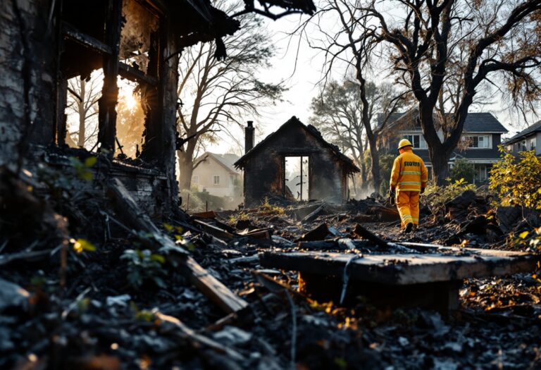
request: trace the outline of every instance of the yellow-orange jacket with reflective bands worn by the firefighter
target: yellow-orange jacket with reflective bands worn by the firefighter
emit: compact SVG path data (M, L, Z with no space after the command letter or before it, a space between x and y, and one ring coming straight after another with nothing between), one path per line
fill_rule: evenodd
M394 159L391 172L391 187L397 191L420 192L421 187L426 187L428 171L425 162L420 156L413 154L410 148Z

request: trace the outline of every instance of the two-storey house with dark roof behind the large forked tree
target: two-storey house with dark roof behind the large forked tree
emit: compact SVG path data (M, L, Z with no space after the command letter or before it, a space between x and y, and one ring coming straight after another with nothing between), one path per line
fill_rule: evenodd
M383 124L383 115L378 116L379 124ZM437 122L437 119L435 118ZM502 134L508 132L499 123L492 113L468 113L462 142L455 149L449 160L449 166L453 166L456 159L466 158L473 163L475 184L485 183L488 179L492 164L500 158L498 145L502 143ZM443 139L443 130L437 130L440 140ZM415 109L405 113L393 113L383 131L380 140L381 149L386 152L396 153L396 147L400 139L406 138L413 144L413 149L421 156L431 175L432 164L428 156L428 146L418 121L418 113Z

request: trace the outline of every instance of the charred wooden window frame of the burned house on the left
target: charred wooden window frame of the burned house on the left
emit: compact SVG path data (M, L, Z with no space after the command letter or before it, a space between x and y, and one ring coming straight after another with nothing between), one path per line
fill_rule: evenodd
M123 29L122 9L125 1L137 1L145 10L158 18L158 30L155 35L151 35L149 64L147 73L139 70L128 63L120 61L120 37ZM58 67L57 67L57 101L56 101L56 144L58 147L66 147L67 134L67 117L64 113L67 102L68 80L62 75L61 58L66 46L66 40L71 40L77 44L82 44L89 50L101 55L103 61L104 82L101 87L101 97L98 102L98 152L107 153L112 158L116 150L116 144L119 144L116 137L117 111L118 103L118 77L125 78L132 82L136 82L138 87L147 91L149 96L147 112L144 122L145 132L158 132L157 127L161 122L161 112L163 104L161 101L161 73L163 66L161 65L161 46L166 44L166 27L165 15L161 9L156 8L154 4L140 0L108 0L106 6L106 16L104 22L104 41L92 37L91 35L82 32L77 28L77 25L72 25L61 16L61 21L58 23ZM145 136L145 144L147 137ZM143 144L143 151L145 144ZM121 145L119 145L121 148ZM121 149L120 149L121 150ZM144 153L142 153L144 154ZM147 156L149 157L149 156ZM151 159L151 158L147 158Z

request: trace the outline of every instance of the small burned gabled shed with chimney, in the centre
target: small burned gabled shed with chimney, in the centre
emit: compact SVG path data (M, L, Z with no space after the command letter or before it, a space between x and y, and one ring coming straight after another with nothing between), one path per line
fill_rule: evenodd
M301 185L297 199L347 200L347 180L359 172L353 161L336 145L323 139L312 125L304 125L293 116L278 130L254 147L254 127L246 128L246 154L235 166L244 170L244 204L260 204L269 195L295 197L287 182ZM300 159L298 179L287 178L288 161ZM304 185L304 187L303 187ZM306 194L303 197L303 192Z

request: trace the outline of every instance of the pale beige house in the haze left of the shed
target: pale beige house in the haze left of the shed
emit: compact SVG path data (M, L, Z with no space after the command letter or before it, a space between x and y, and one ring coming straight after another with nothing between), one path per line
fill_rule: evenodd
M201 163L192 173L192 186L216 197L241 197L242 173L233 166L239 158L236 154L210 152L199 156L194 161Z

